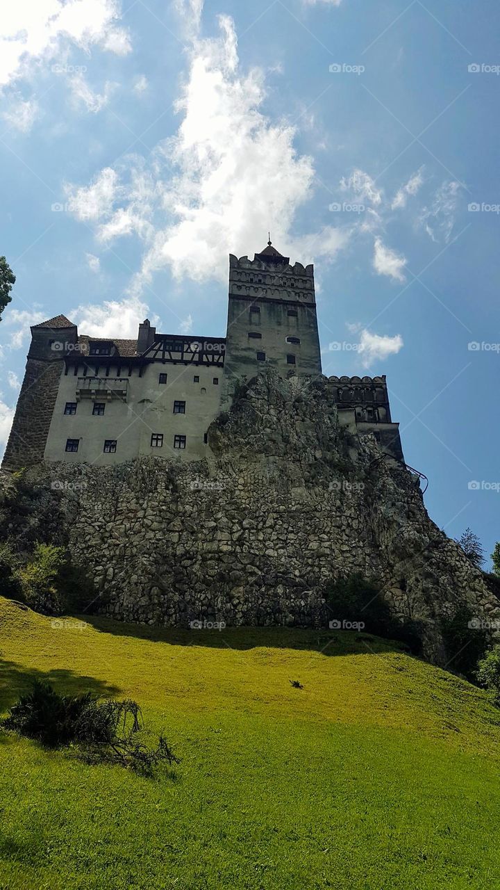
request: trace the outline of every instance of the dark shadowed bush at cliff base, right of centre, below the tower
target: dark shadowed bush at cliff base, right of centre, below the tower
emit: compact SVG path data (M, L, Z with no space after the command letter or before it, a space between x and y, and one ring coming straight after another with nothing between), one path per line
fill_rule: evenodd
M400 640L415 655L421 653L422 627L419 622L402 622L393 618L389 603L373 582L353 574L349 578L340 578L328 587L325 596L333 619L353 624L362 622L364 625L347 629L367 630L370 634Z

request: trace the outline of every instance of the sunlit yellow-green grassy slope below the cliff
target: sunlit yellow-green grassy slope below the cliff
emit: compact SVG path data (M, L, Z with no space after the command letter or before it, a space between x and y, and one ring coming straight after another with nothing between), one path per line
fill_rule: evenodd
M0 711L34 676L132 697L177 779L0 735L2 890L497 886L482 692L351 634L92 620L57 629L0 599Z

